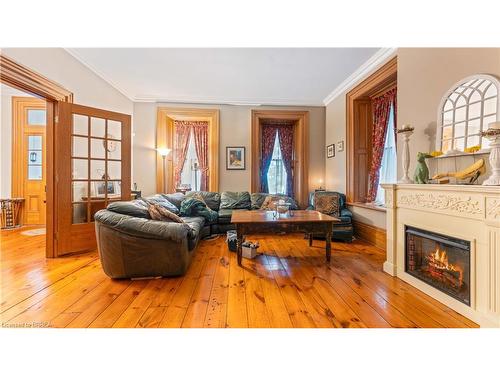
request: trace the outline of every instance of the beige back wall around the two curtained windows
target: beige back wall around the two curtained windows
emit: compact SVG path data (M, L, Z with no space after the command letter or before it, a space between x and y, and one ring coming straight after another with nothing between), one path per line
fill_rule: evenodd
M156 111L161 107L215 108L220 111L219 190L250 190L250 128L251 111L258 110L306 110L309 111L309 186L316 187L324 179L324 124L323 107L270 107L233 105L194 105L174 103L135 103L134 122L134 182L143 194L156 192ZM244 171L226 170L226 146L245 146L247 168Z

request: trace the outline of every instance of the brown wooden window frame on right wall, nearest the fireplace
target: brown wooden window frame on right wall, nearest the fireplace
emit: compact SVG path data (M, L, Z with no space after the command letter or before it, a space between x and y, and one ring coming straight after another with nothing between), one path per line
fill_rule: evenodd
M397 84L397 74L398 60L396 56L359 83L346 95L346 197L348 203L357 203L355 197L358 181L354 171L355 167L359 168L355 162L356 150L354 143L358 130L354 121L356 101L377 97L391 89ZM371 150L369 154L371 154ZM371 162L371 157L369 157L369 159L370 160L367 161L368 165ZM364 168L366 169L366 166ZM367 174L368 172L369 171L366 170Z

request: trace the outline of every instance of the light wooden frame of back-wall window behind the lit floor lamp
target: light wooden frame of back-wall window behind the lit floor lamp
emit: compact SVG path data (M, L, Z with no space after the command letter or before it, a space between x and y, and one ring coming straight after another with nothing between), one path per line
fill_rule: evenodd
M219 191L219 110L208 108L158 107L156 118L156 148L173 150L175 120L208 121L208 190ZM167 156L167 186L163 174L163 159L156 152L156 191L175 192L173 152Z

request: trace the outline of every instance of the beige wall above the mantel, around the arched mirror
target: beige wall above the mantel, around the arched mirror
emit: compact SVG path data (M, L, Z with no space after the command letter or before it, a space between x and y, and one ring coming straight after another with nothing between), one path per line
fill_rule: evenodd
M438 106L443 95L461 79L480 73L500 78L500 48L398 50L398 123L415 127L410 141L410 176L415 170L416 153L436 149ZM402 139L398 139L398 150L402 147ZM401 154L398 153L398 176L403 174ZM465 156L430 160L428 164L433 173L437 167L440 172L460 170L473 162L474 157Z

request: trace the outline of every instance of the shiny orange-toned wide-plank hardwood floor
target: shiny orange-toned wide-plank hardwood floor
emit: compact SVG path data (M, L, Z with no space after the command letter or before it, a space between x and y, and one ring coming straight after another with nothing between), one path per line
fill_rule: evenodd
M46 259L44 236L1 232L3 327L477 327L382 271L365 242L252 236L243 260L221 237L202 241L184 277L111 280L96 252Z

